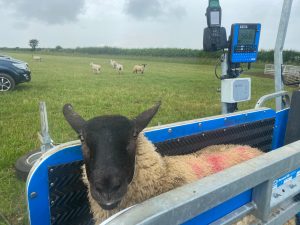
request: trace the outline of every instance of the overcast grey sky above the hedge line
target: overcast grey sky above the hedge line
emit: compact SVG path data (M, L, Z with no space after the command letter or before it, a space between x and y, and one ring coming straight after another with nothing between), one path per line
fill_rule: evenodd
M275 45L283 0L220 0L222 25L262 24L261 49ZM208 0L0 0L0 47L202 48ZM300 0L285 49L300 50Z

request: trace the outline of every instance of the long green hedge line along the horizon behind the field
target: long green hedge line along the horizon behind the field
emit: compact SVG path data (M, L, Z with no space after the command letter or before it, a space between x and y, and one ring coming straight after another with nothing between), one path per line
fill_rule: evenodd
M29 48L2 48L2 50L31 51ZM72 54L91 54L91 55L124 55L124 56L150 56L150 57L189 57L201 59L217 59L222 54L219 52L204 52L198 49L182 48L117 48L117 47L77 47L63 48L35 48L35 51L42 52L62 52ZM258 61L272 63L274 59L273 50L261 50L258 54ZM300 52L287 50L283 52L283 61L285 63L300 63Z

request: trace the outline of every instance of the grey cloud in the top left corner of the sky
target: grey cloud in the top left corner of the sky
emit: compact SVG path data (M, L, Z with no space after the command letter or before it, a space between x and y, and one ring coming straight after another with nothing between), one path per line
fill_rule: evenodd
M62 24L77 20L84 10L85 0L0 0L0 5L9 7L16 18Z

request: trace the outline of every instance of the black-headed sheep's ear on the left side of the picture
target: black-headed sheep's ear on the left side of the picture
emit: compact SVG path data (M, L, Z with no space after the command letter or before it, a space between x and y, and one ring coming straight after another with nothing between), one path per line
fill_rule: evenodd
M78 133L81 133L81 129L85 124L85 120L79 116L76 112L73 111L71 104L65 104L63 107L63 114L71 125L71 127Z

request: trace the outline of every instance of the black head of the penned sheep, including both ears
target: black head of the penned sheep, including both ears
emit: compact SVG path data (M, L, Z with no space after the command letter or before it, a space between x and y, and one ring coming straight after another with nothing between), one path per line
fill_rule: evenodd
M106 210L118 206L134 175L136 139L156 114L160 102L135 119L99 116L85 121L70 104L63 113L79 134L92 197Z

